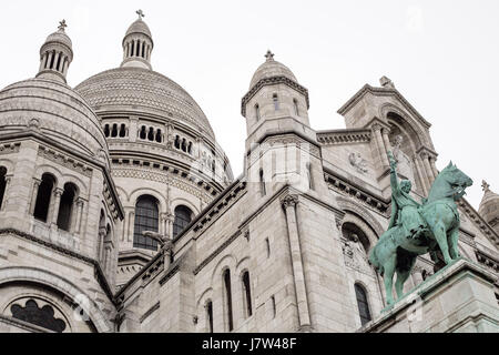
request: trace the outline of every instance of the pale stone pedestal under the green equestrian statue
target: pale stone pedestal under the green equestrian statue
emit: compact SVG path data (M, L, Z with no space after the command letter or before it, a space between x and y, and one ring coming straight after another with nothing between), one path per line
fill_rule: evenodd
M499 333L499 304L493 291L497 278L478 264L458 260L358 332Z

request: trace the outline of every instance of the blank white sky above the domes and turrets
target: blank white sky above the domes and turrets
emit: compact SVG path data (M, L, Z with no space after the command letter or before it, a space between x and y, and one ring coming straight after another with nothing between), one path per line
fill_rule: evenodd
M0 87L34 77L61 19L73 41L70 85L119 67L138 9L153 34L153 69L201 105L235 176L241 98L271 49L308 89L314 129L345 128L336 111L387 75L432 124L437 168L452 160L473 179L471 204L483 178L499 193L499 1L1 1Z

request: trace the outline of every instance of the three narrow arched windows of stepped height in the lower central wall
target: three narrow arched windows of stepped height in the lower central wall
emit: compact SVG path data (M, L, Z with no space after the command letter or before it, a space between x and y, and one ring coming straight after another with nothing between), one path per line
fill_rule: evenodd
M226 268L222 273L223 284L223 302L224 302L224 317L228 332L234 329L234 315L233 315L233 300L232 300L232 282L231 270ZM243 290L243 307L244 316L251 317L253 315L252 305L252 287L249 281L249 272L245 271L241 276L241 287ZM207 331L213 333L213 302L208 300L205 305Z

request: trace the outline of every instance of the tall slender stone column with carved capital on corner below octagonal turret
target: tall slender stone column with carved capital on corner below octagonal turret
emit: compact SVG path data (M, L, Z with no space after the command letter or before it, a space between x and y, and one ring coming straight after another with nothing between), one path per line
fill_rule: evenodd
M298 203L298 196L286 195L281 199L281 203L286 213L299 326L309 326L310 313L308 311L307 290L305 285L305 275L302 262L302 250L299 245L298 227L296 224L296 204Z

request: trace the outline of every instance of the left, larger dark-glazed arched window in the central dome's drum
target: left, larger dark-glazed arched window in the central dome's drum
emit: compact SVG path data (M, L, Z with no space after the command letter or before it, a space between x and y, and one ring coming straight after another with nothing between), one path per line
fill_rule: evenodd
M133 225L133 246L152 251L157 250L157 242L142 232L157 232L157 200L151 195L140 196L135 204L135 222Z

